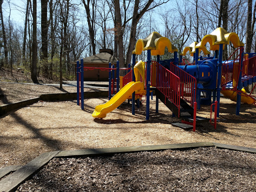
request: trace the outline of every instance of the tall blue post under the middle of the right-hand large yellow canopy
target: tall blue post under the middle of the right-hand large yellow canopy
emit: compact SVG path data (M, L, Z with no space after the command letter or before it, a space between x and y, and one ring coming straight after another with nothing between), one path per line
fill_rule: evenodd
M222 53L223 53L223 44L219 44L219 49L218 49L218 63L217 63L217 71L218 71L218 76L217 76L217 117L219 116L219 100L220 100L220 80L221 80L221 67L222 67Z

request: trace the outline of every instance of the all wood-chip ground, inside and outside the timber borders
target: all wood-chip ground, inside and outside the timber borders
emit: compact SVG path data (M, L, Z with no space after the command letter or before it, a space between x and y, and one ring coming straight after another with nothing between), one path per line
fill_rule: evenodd
M102 89L85 89L85 91L94 90ZM75 91L76 87L63 87L63 89L59 89L58 87L46 85L0 83L0 93L3 95L3 97L0 98L0 104L28 99L39 96L42 93ZM37 103L0 116L0 168L8 165L24 165L43 152L54 150L202 141L256 148L256 107L252 104L242 103L240 115L238 116L235 115L235 102L221 97L217 129L214 130L212 125L205 122L197 123L196 131L193 132L191 129L183 130L172 126L172 122L180 122L180 119L172 117L171 111L162 102L159 102L159 112L155 113L155 97L153 100L150 100L149 120L145 120L145 102L143 102L139 108L135 108L135 115L132 115L131 104L128 104L127 100L123 102L118 109L108 113L105 118L93 118L91 114L95 106L105 103L107 100L107 98L84 99L84 110L81 110L80 107L76 105L76 100L58 102L38 101ZM209 106L202 105L200 110L197 110L197 115L209 118ZM211 157L210 159L201 159L201 155L202 158L204 158L204 152L202 152L204 150L207 151L205 152L206 156ZM49 174L51 173L51 166L53 166L54 169L58 169L61 166L66 167L67 170L60 171L59 173L53 172L53 174L58 175L55 177L59 178L59 182L61 181L60 183L62 183L61 185L64 185L64 182L69 183L68 180L71 179L72 182L70 182L70 184L72 184L72 186L64 185L64 187L79 187L79 185L75 184L77 181L84 183L84 186L90 186L91 191L98 191L99 189L97 187L109 191L111 186L120 191L129 190L129 188L132 190L157 191L157 187L160 187L160 191L164 190L165 186L169 187L166 191L255 191L255 154L230 151L233 153L233 156L225 156L228 155L229 152L224 151L220 157L215 157L219 149L199 149L197 152L192 149L190 152L189 151L190 150L166 150L159 153L141 152L116 154L99 158L53 159L45 167L48 169L46 172L49 172ZM185 159L186 153L188 155L186 157L187 159ZM151 157L149 157L150 155ZM238 161L239 158L241 161ZM100 162L100 159L104 159L104 161ZM121 159L124 159L123 165L119 162L122 161ZM128 159L130 162L128 162ZM162 159L162 162L160 159ZM219 159L219 161L217 161L217 159ZM246 161L246 159L248 159L248 161ZM81 161L81 163L78 161ZM79 167L78 165L82 164L83 161L84 165ZM168 164L171 161L175 163L172 165ZM98 163L94 164L92 162ZM201 168L207 164L205 162L207 162L208 165L212 165L209 167L208 165L205 166L207 171ZM212 162L212 164L210 164L210 162ZM55 163L55 165L52 163ZM77 164L77 168L76 165L72 166L72 163ZM108 164L107 167L104 167L105 164ZM176 167L174 167L174 165ZM148 169L146 166L148 166ZM196 170L195 166L198 166L197 168L199 169ZM234 173L234 169L238 169L238 167L243 168L240 168L237 173ZM193 169L194 171L189 172ZM222 169L223 171L226 169L225 174L221 173ZM253 171L250 172L249 169L253 170L254 173ZM136 170L141 170L141 173L136 173ZM157 170L159 171L158 173ZM166 172L164 172L164 170L166 170ZM180 172L174 172L174 170L179 170ZM214 172L215 170L216 172ZM243 170L248 174L242 172ZM73 178L73 173L70 173L70 175L66 177L61 177L62 174L66 174L65 171L76 172L75 174L81 174L81 177ZM98 173L93 173L93 171L98 171ZM117 171L119 171L120 174ZM92 172L92 174L87 175L90 172ZM115 175L113 172L118 174ZM213 173L211 174L211 172ZM49 177L48 181L50 181L48 184L52 184L50 186L45 183L38 184L38 187L42 188L36 190L44 190L45 187L45 191L50 191L51 189L53 190L54 187L58 187L53 184L55 178L51 179L50 176L41 178L38 174L37 177L40 178L39 180L44 180L46 177ZM83 174L85 175L83 176ZM97 174L103 177L97 178ZM157 180L157 174L163 174L164 177ZM177 176L178 174L180 176ZM151 175L155 183L153 180L147 182L149 178L146 178L146 175L148 177ZM215 175L217 179L215 179L213 175ZM69 176L70 178L68 178ZM141 182L139 182L139 180L141 180ZM28 188L37 186L33 185L33 182L37 183L37 180L29 182L32 183L32 186L27 186ZM170 184L168 184L168 182ZM183 185L183 183L187 184ZM204 183L204 185L200 186L199 184L201 183ZM230 183L230 189L227 187L228 183ZM174 187L174 189L171 187ZM237 189L234 187L237 187ZM66 191L67 188L56 190ZM84 191L88 191L86 187L83 188ZM76 191L76 188L71 188L69 191ZM77 191L83 191L82 187L79 190L77 189Z

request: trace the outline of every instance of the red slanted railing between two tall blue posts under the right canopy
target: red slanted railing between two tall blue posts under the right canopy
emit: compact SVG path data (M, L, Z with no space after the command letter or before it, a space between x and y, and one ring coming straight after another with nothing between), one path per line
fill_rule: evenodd
M242 47L237 48L233 54L227 59L229 60L230 58L235 55L238 50L239 54L231 61L224 61L222 63L222 68L221 68L221 87L224 89L227 85L228 82L232 81L232 86L234 90L237 89L237 83L238 83L238 78L239 78L239 73L240 73L240 68L241 68L241 63L239 62L240 57L241 57L241 52L242 52Z

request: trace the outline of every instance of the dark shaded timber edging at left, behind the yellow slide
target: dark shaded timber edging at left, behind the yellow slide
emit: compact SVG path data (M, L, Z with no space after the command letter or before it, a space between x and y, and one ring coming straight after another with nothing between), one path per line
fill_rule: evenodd
M75 100L76 92L66 92L66 93L51 93L51 94L41 94L39 97L30 98L26 100L21 100L9 104L4 104L0 106L0 115L3 115L12 110L25 107L27 105L38 102L39 100L43 101L62 101L62 100ZM84 92L84 98L94 98L94 97L107 97L108 91L89 91Z

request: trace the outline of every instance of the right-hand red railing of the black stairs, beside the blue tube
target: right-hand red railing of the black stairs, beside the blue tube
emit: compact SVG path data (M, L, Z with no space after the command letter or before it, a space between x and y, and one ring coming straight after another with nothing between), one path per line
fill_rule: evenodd
M193 106L196 94L196 79L173 63L170 63L170 71L180 78L180 96Z

